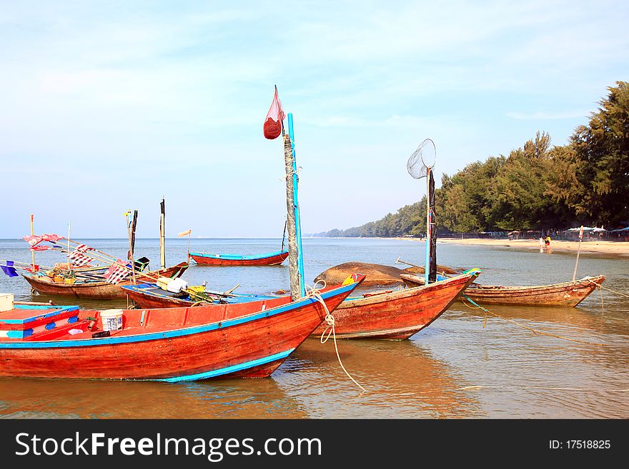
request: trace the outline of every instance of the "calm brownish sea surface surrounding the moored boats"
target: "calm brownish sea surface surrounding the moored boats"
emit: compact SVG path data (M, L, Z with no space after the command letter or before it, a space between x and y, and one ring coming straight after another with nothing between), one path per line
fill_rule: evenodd
M82 240L124 258L126 240ZM192 251L263 253L279 239L193 239ZM508 241L505 241L507 244ZM535 285L568 281L573 253L514 251L507 247L437 245L442 265L478 267L480 283ZM167 263L185 261L186 239L167 240ZM139 239L137 256L159 263L159 241ZM379 239L304 239L306 278L326 268L364 261L422 264L424 244ZM59 253L36 253L51 265ZM30 262L24 241L0 240L0 259ZM404 267L404 266L400 266ZM581 255L578 276L604 274L604 286L629 293L629 258ZM237 293L289 288L286 265L221 268L192 264L189 284L212 290L237 283ZM307 282L308 283L308 282ZM0 293L31 296L21 278L0 278ZM117 301L69 301L90 308ZM592 346L535 335L499 318L487 319L455 303L410 341L340 341L345 368L366 389L360 393L337 362L332 341L308 339L271 378L197 383L108 382L0 378L3 418L629 418L629 298L595 291L577 308L493 306L490 310L538 331L605 343Z

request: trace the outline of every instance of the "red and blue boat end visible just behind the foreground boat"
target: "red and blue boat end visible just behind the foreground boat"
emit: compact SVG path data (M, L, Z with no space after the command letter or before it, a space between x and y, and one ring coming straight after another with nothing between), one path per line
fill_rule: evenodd
M155 283L140 283L139 285L125 285L124 291L129 300L137 308L192 308L207 304L232 304L246 301L262 301L279 298L279 295L237 295L234 293L209 292L202 299L186 292L172 293L159 288Z

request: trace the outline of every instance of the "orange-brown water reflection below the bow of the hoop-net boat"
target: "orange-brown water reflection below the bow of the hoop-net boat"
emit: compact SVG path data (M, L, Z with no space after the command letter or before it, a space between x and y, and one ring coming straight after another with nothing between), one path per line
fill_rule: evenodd
M479 412L473 396L451 391L466 383L447 365L410 341L338 341L340 367L332 339L308 339L282 367L287 393L304 402L310 417L447 418ZM288 375L288 376L285 376Z

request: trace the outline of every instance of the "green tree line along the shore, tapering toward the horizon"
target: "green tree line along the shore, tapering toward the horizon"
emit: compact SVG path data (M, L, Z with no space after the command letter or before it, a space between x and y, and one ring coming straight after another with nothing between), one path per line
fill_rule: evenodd
M629 83L617 81L564 146L538 132L508 156L444 174L435 191L439 231L629 225ZM426 197L377 221L317 236L405 236L426 231Z

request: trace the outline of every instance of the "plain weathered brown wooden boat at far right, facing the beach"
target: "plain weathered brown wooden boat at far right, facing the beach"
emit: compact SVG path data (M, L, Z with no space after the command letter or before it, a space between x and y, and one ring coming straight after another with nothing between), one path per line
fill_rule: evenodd
M401 277L409 286L424 283L424 279L420 276L402 274ZM498 286L472 283L463 293L480 304L577 306L603 281L605 281L605 276L584 277L573 282L535 286Z

